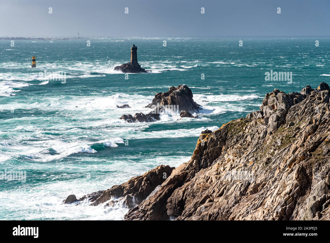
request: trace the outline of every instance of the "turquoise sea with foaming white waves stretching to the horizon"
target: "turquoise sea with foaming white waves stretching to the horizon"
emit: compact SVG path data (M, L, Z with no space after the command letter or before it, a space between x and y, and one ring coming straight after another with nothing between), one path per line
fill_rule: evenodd
M187 162L202 130L258 110L275 87L299 92L330 83L328 37L118 37L90 39L90 47L87 40L0 41L0 171L26 171L25 183L0 180L0 220L122 219L128 209L120 206L62 200ZM133 44L139 64L152 72L125 79L113 69L129 62ZM45 70L66 72L66 82L44 80ZM292 72L292 83L265 81L270 70ZM148 113L157 92L180 84L203 106L200 119L118 119ZM123 104L131 108L116 107Z

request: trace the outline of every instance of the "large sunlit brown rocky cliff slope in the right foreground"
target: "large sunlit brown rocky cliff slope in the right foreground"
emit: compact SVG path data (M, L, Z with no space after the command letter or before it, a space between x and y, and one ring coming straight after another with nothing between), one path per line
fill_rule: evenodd
M330 89L266 94L200 135L191 159L126 220L330 220Z

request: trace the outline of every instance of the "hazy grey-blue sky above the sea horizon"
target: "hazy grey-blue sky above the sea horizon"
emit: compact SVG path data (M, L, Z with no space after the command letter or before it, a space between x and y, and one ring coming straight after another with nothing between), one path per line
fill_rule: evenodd
M0 0L1 37L329 36L329 30L330 0Z

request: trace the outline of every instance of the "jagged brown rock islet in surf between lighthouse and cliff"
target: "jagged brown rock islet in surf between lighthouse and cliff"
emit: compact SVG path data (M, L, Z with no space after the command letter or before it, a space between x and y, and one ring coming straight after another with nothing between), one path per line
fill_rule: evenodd
M167 92L157 93L152 102L146 106L146 108L152 108L153 110L148 114L135 113L132 115L122 115L119 119L123 119L127 122L153 122L159 121L159 115L162 112L177 112L181 111L181 117L199 118L197 115L191 115L190 112L198 112L202 110L193 100L191 89L186 85L179 85L178 87L170 87Z

